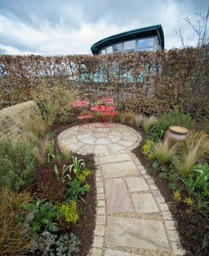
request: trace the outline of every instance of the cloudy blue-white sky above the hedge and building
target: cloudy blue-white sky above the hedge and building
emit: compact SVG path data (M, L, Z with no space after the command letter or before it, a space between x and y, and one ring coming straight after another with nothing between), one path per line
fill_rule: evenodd
M193 37L184 18L206 14L208 0L0 0L0 49L7 54L89 54L93 43L161 24L165 48ZM182 24L183 22L183 24Z

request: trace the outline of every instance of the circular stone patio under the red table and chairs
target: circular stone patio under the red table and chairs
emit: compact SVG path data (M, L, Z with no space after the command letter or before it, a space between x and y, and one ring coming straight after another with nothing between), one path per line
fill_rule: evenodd
M84 125L82 130L74 126L61 132L58 136L59 146L80 154L108 155L134 149L141 141L140 134L127 126L111 124L111 128L95 128L96 126L99 123L93 124L93 129Z

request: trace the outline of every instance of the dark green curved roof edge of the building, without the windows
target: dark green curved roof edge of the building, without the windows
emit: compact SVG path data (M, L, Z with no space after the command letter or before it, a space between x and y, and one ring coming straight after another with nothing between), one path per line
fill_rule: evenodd
M142 27L138 29L133 29L130 31L126 31L120 34L111 35L110 37L106 37L98 41L97 43L91 46L91 52L93 54L99 54L99 51L106 46L114 45L116 43L120 43L123 41L129 41L133 39L143 38L143 37L151 37L153 35L157 35L159 39L159 43L161 44L162 50L165 49L164 43L164 34L163 28L161 25L155 25L150 27Z

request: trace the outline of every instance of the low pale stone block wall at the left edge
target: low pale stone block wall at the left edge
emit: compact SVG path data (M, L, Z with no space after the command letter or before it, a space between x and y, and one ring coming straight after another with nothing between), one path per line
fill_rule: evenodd
M0 110L0 140L20 140L25 126L31 120L41 117L36 101L27 101Z

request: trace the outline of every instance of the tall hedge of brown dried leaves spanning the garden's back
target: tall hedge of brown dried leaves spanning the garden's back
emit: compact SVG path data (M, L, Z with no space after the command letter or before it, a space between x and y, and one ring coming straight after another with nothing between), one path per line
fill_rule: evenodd
M58 83L78 90L78 97L90 101L99 94L114 96L120 109L137 113L177 107L209 116L208 73L208 55L203 58L199 48L108 56L1 55L0 107L31 100L34 92L41 99L47 81L52 87Z

